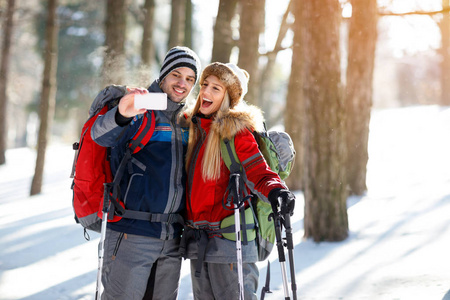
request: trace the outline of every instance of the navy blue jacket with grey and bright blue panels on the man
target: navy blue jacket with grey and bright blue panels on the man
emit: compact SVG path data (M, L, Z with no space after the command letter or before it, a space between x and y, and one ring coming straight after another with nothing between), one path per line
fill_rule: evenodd
M149 92L161 93L158 82ZM125 207L150 213L182 213L185 208L186 172L184 157L189 137L188 124L180 116L182 104L167 101L167 110L155 112L155 131L146 146L132 155L120 182L121 200ZM111 171L114 175L125 153L126 142L137 132L142 116L124 127L115 121L117 106L99 116L92 126L93 140L111 147ZM182 225L121 219L108 223L115 231L172 239L179 237Z

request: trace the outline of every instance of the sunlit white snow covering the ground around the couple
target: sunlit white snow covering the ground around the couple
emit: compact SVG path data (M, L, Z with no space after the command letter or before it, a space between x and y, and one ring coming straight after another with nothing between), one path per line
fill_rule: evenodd
M296 192L298 299L450 299L449 133L449 107L373 111L368 192L348 199L345 241L304 240ZM0 299L94 299L99 235L86 241L73 221L72 159L71 146L52 144L43 192L29 197L35 152L7 151L0 166ZM283 299L276 250L269 261L273 293L266 299ZM267 263L258 265L261 289ZM185 261L180 300L192 299L190 283Z

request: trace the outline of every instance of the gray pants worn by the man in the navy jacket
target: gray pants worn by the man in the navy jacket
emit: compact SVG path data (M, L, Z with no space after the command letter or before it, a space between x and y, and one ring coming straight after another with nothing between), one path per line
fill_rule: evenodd
M160 240L107 229L101 299L141 300L156 263L152 299L175 300L181 269L179 244L179 238Z

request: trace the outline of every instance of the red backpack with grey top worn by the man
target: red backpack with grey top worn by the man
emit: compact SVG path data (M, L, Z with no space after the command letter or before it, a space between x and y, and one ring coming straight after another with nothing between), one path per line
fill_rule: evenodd
M120 98L126 93L125 86L111 85L102 90L89 110L89 118L81 131L80 141L73 144L75 158L72 166L71 178L73 178L73 209L75 221L80 223L85 230L100 232L103 199L111 201L109 221L118 221L127 216L133 217L131 211L120 203L118 185L124 167L131 154L141 150L150 140L155 129L155 115L153 111L144 114L137 134L128 143L126 155L119 165L115 176L111 173L109 164L109 148L102 147L92 140L91 128L98 116L104 115L109 109L116 106ZM149 114L150 117L148 116ZM149 120L150 119L150 120ZM107 189L108 187L108 189Z

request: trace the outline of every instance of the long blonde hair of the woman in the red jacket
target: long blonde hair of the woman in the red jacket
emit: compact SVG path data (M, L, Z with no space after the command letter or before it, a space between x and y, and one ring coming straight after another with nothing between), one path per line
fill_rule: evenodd
M192 111L191 117L195 116L200 110L200 99L197 98L197 103ZM212 116L212 118L221 118L224 114L228 113L230 109L230 96L228 92L225 92L225 95L222 100L222 104L219 107L219 110ZM211 128L211 130L214 130ZM188 150L186 154L186 169L189 167L190 161L192 159L192 152L194 146L198 143L200 134L196 125L191 122L189 127L189 144ZM221 136L219 132L212 132L208 134L206 138L205 145L205 153L203 155L203 160L201 162L202 168L202 177L204 180L217 180L220 176L220 166L222 163L222 155L220 152L220 139Z

